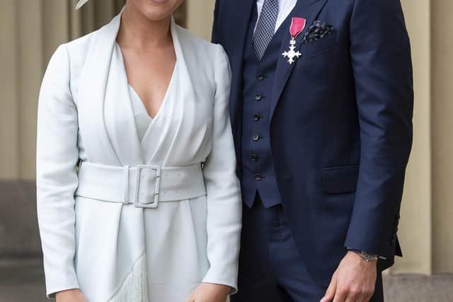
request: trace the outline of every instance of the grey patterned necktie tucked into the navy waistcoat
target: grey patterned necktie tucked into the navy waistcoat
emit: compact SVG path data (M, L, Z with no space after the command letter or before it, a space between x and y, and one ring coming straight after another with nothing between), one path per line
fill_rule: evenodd
M260 60L263 58L266 48L268 48L269 42L274 35L277 16L278 0L264 0L263 9L253 36L253 47L255 48L256 56Z

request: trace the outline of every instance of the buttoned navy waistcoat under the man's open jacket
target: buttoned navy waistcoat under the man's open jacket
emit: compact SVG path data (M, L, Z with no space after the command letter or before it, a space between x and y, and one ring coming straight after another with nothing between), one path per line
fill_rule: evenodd
M287 27L287 21L285 21L259 61L253 48L253 30L257 15L255 8L243 55L241 189L243 202L248 207L252 206L258 192L264 206L268 208L281 202L270 150L269 119L271 93L277 59L280 57L282 35L288 35L289 43L289 33L283 30Z

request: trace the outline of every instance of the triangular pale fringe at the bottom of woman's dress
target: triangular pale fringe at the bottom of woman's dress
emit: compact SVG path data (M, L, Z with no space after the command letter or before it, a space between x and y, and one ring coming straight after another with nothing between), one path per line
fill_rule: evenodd
M149 302L146 254L135 262L120 289L108 302Z

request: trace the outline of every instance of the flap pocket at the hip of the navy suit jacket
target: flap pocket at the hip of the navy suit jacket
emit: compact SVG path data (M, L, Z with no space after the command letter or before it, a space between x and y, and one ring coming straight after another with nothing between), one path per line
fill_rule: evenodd
M323 168L323 190L327 194L355 192L359 165Z

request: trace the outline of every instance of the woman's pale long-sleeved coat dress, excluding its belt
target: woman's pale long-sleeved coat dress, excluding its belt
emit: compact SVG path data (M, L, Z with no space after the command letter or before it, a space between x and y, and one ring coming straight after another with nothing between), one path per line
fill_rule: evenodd
M119 27L120 15L59 47L42 83L37 185L47 296L80 288L93 302L177 302L200 282L236 289L241 198L226 54L172 19L176 66L159 112L142 120L115 43ZM79 160L204 163L207 193L156 209L81 197Z

